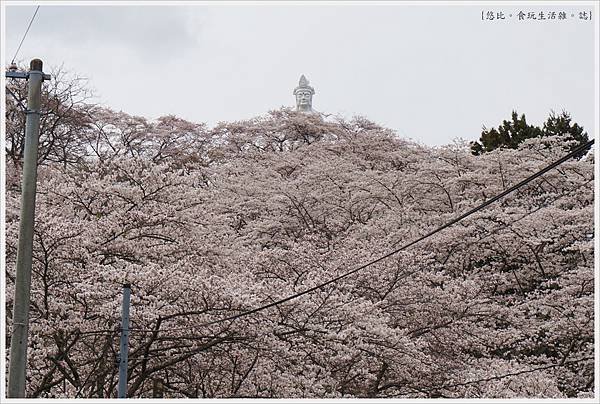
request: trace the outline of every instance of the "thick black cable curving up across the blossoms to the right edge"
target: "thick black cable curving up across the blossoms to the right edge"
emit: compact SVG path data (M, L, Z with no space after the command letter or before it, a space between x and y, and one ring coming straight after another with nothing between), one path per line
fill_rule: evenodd
M421 237L417 238L416 240L413 240L413 241L411 241L411 242L409 242L407 244L404 244L402 247L397 248L397 249L395 249L393 251L390 251L389 253L384 254L381 257L376 258L376 259L374 259L372 261L369 261L368 263L363 264L363 265L361 265L361 266L359 266L359 267L357 267L357 268L355 268L355 269L353 269L351 271L348 271L348 272L346 272L346 273L344 273L342 275L336 276L335 278L332 278L332 279L330 279L330 280L328 280L326 282L323 282L323 283L321 283L319 285L313 286L313 287L311 287L309 289L303 290L302 292L298 292L296 294L284 297L282 299L279 299L279 300L276 300L274 302L265 304L263 306L259 306L259 307L254 308L254 309L243 311L243 312L235 314L233 316L229 316L229 317L226 317L226 318L223 318L223 319L214 320L214 321L210 321L210 322L207 322L207 323L199 324L199 325L196 325L195 327L207 327L207 326L210 326L210 325L215 325L215 324L223 323L223 322L226 322L226 321L234 321L234 320L237 320L240 317L245 317L245 316L248 316L250 314L258 313L259 311L263 311L263 310L269 309L271 307L278 306L278 305L280 305L282 303L289 302L290 300L297 299L297 298L299 298L301 296L304 296L304 295L306 295L308 293L314 292L315 290L321 289L321 288L323 288L325 286L328 286L328 285L331 285L332 283L335 283L335 282L337 282L339 280L347 278L350 275L353 275L353 274L355 274L355 273L357 273L357 272L359 272L359 271L361 271L361 270L363 270L363 269L365 269L365 268L367 268L367 267L369 267L371 265L374 265L374 264L376 264L378 262L381 262L384 259L389 258L392 255L397 254L400 251L405 250L405 249L407 249L407 248L409 248L409 247L411 247L411 246L413 246L413 245L415 245L415 244L417 244L417 243L425 240L426 238L429 238L429 237L433 236L434 234L439 233L440 231L445 230L448 227L450 227L450 226L452 226L452 225L460 222L461 220L465 219L466 217L468 217L468 216L470 216L470 215L472 215L472 214L474 214L474 213L482 210L483 208L487 207L488 205L496 202L497 200L503 198L504 196L510 194L511 192L514 192L515 190L517 190L517 189L521 188L522 186L528 184L529 182L533 181L534 179L542 176L543 174L547 173L548 171L552 170L553 168L558 167L559 165L561 165L565 161L570 160L574 156L576 156L579 153L581 153L581 152L587 150L588 148L590 148L593 144L594 144L594 139L588 141L587 143L585 143L583 145L580 145L579 147L577 147L576 149L574 149L573 151L571 151L569 154L565 155L564 157L560 158L559 160L557 160L557 161L549 164L548 166L546 166L542 170L538 171L537 173L535 173L535 174L527 177L526 179L522 180L521 182L517 183L516 185L513 185L512 187L508 188L504 192L501 192L500 194L498 194L498 195L496 195L496 196L488 199L487 201L483 202L482 204L478 205L477 207L475 207L475 208L469 210L468 212L460 215L456 219L453 219L453 220L445 223L444 225L436 228L435 230L430 231L429 233L425 234L424 236L421 236ZM398 244L398 242L394 243L393 245L396 245L396 244ZM169 329L169 331L175 331L175 330L177 330L177 329L174 329L174 328ZM180 330L189 330L189 327L188 328L181 328ZM144 330L139 330L138 329L136 331L143 332ZM156 332L156 331L157 330L147 330L147 332Z

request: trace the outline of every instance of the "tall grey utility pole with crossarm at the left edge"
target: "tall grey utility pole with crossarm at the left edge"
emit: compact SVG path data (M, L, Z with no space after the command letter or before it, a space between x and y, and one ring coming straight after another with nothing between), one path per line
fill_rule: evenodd
M10 339L10 366L8 370L8 397L24 398L27 367L27 337L29 332L37 154L40 132L40 104L42 82L50 80L50 75L43 73L42 61L40 59L33 59L29 65L29 72L8 71L6 72L6 77L26 79L28 82L19 246L17 249L15 300L13 305L12 335Z

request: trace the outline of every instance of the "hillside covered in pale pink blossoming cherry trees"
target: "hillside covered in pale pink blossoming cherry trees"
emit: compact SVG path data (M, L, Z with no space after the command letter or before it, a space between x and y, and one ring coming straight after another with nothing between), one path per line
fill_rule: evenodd
M473 155L288 109L150 122L75 84L45 92L28 396L115 396L130 282L129 397L593 397L591 153L352 276L218 322L428 233L572 139ZM7 102L8 347L24 114Z

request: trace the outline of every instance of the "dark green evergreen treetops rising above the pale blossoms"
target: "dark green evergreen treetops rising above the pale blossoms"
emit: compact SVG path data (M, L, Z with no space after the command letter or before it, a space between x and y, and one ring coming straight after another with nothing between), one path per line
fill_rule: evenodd
M503 121L498 129L488 130L484 127L479 142L472 142L471 151L474 155L480 155L499 147L516 149L527 139L557 135L565 136L565 141L575 141L568 145L569 150L573 150L588 141L587 133L577 123L572 124L571 116L565 111L560 114L551 112L542 128L528 125L525 114L519 117L517 112L513 111L512 121Z

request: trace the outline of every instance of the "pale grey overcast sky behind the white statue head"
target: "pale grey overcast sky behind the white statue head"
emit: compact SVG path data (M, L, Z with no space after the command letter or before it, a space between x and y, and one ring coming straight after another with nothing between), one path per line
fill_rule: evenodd
M151 119L212 126L294 106L305 74L316 110L428 145L475 140L513 109L536 125L566 110L595 137L594 21L578 17L598 9L493 4L42 5L17 60L63 64L106 106ZM34 10L6 7L6 64Z

